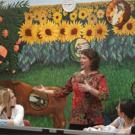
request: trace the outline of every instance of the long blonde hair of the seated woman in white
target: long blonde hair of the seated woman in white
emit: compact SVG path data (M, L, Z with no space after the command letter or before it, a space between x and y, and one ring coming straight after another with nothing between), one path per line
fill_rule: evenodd
M0 105L8 106L10 101L10 90L9 88L4 88L0 90Z

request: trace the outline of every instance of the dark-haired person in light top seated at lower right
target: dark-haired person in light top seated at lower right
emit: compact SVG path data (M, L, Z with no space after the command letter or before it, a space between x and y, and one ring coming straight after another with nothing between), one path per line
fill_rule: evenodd
M116 107L118 117L108 126L97 125L85 128L84 131L106 131L129 133L131 127L135 125L135 100L123 100Z

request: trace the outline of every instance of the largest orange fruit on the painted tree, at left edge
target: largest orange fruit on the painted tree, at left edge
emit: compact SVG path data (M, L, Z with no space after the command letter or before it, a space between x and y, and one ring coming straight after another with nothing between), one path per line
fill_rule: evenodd
M3 63L3 60L6 58L7 53L7 49L3 45L0 45L0 64Z

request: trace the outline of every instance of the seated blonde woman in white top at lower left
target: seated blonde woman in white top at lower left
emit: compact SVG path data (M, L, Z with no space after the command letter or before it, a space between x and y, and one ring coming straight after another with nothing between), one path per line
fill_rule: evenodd
M16 97L11 89L0 90L0 125L24 126L24 108L16 104Z

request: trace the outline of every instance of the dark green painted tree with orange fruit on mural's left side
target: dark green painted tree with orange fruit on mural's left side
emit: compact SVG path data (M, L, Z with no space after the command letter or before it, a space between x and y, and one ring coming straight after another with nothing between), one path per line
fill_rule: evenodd
M6 5L0 2L0 71L15 73L18 69L18 52L22 48L18 31L28 11L28 1Z

